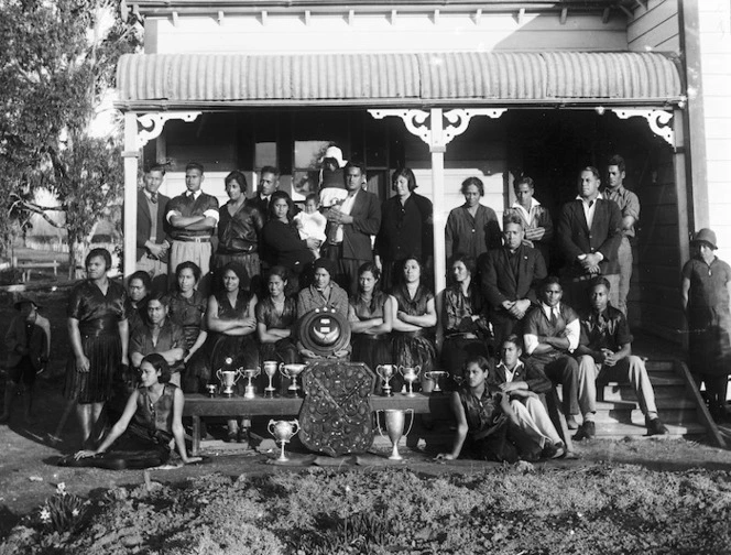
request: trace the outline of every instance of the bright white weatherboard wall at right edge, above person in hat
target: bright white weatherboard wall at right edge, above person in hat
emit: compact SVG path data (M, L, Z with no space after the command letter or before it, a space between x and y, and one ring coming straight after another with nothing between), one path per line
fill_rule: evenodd
M702 0L698 11L709 225L731 263L731 2Z

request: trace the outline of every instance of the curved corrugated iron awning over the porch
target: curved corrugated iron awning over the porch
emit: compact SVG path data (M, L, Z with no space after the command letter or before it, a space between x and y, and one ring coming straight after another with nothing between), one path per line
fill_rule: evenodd
M684 91L668 57L640 52L128 54L119 106L667 104Z

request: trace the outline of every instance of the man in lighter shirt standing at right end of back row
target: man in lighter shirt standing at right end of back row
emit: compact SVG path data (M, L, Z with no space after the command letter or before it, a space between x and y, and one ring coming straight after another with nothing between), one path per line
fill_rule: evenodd
M614 155L609 160L607 175L609 186L604 189L604 198L614 200L622 214L622 240L617 251L617 260L620 264L617 308L626 316L626 297L630 293L630 281L632 280L632 240L634 239L634 225L640 219L640 199L637 195L624 188L626 174L622 156Z

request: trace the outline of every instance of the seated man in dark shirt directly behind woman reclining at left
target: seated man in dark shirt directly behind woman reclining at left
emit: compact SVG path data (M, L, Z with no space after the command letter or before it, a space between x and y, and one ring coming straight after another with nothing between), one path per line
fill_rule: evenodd
M183 328L167 317L167 298L153 293L148 301L148 322L138 327L130 338L130 360L134 368L148 355L162 355L171 367L170 382L181 385L181 362L186 356Z

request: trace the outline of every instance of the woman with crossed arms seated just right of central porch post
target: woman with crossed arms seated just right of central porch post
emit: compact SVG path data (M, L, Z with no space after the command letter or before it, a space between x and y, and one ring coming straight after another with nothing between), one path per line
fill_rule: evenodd
M476 271L473 258L457 254L451 263L455 282L444 294L441 363L456 379L461 378L467 359L489 356L490 328L482 314L480 287L472 282Z

